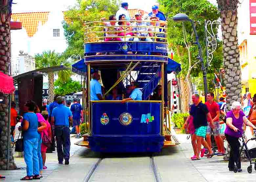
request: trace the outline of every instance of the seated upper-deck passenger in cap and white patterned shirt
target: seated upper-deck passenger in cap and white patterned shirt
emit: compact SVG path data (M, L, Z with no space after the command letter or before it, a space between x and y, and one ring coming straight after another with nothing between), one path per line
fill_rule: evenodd
M141 14L139 12L137 12L135 14L135 19L137 21L141 21L141 18L142 18ZM146 26L149 26L149 24L147 24L146 22L141 21L141 22L133 22L132 26L133 26L133 31L139 31L139 32L135 32L133 34L133 36L143 36L143 37L139 37L139 38L135 37L133 39L133 41L149 41L149 42L152 42L152 39L147 37L149 35L148 35L148 32L147 32L148 28Z

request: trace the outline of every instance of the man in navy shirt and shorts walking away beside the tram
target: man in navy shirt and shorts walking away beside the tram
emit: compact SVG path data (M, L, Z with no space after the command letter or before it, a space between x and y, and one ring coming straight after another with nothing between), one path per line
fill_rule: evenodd
M71 105L71 112L73 114L73 127L75 127L76 131L76 137L75 138L82 138L80 132L79 132L79 125L80 125L80 119L83 122L83 109L81 104L77 103L77 98L73 99L74 104Z

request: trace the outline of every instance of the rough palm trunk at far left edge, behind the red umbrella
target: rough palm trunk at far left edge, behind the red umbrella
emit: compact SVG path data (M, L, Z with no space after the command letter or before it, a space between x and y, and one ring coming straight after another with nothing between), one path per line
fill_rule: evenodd
M11 41L10 41L10 21L11 21L11 0L0 1L0 71L9 75L9 62L11 56ZM6 170L7 162L7 146L11 137L8 136L8 95L2 96L3 102L0 104L0 153L3 158L0 158L0 170ZM10 150L9 169L15 168L13 153Z

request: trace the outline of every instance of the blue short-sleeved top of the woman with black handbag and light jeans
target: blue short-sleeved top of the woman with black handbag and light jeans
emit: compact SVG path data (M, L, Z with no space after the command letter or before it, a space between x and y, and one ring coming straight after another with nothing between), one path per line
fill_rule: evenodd
M23 131L23 140L29 140L29 139L37 139L39 137L39 133L37 131L38 127L38 119L35 113L33 112L27 112L23 115L23 120L26 120L29 122L29 128L27 131ZM23 123L21 123L21 126L23 126Z

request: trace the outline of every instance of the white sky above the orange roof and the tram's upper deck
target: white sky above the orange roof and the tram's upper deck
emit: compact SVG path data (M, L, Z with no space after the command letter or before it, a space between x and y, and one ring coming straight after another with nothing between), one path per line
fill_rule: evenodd
M157 0L127 0L129 9L143 9L151 11L151 7ZM73 6L76 0L13 0L12 13L67 10Z

